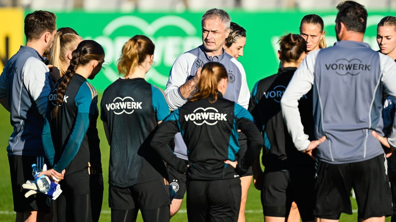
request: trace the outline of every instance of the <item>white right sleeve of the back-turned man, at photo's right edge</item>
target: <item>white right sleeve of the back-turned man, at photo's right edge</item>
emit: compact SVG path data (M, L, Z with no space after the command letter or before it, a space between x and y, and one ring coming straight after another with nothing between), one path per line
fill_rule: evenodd
M396 101L396 62L389 56L379 53L379 62L382 72L382 83L385 92L389 94L393 101ZM396 115L394 115L396 116ZM393 121L392 134L388 137L389 145L396 149L396 122Z

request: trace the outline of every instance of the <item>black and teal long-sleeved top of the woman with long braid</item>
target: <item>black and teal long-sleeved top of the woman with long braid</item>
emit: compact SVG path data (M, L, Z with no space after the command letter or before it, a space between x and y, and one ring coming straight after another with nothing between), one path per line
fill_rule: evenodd
M91 161L89 144L99 146L99 137L87 136L88 128L90 130L93 128L89 125L95 123L94 126L96 126L97 92L84 77L74 74L65 90L59 113L56 118L52 119L51 111L56 105L57 86L61 80L48 96L42 137L49 164L57 172L66 169L65 174L70 174L88 167L88 162ZM96 130L96 127L94 128ZM97 141L90 142L89 140ZM99 147L96 151L99 151ZM98 165L96 159L93 158L95 162L93 165Z

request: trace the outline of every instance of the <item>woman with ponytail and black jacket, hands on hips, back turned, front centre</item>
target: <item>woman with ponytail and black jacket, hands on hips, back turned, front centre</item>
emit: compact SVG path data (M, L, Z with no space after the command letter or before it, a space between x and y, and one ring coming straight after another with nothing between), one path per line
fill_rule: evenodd
M241 201L240 175L246 173L263 145L250 113L223 98L228 74L217 62L202 67L189 102L173 111L160 125L151 146L171 167L187 174L187 217L190 222L238 220ZM237 162L238 130L248 146ZM168 147L181 132L187 145L188 165Z

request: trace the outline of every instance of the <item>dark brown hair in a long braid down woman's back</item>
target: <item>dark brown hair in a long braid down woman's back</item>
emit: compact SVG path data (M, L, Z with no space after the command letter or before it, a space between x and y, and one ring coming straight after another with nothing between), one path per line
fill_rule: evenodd
M105 51L103 50L103 47L93 40L84 40L80 42L77 46L77 49L72 52L70 66L67 68L61 83L58 85L56 105L52 109L52 118L57 117L59 106L63 104L65 90L69 85L70 80L74 76L77 68L80 66L85 66L92 60L97 60L99 62L103 62L105 60Z

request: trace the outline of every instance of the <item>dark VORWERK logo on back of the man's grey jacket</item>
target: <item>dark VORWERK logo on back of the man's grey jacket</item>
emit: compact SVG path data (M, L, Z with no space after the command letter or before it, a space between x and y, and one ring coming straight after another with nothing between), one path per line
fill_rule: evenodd
M338 75L358 75L361 71L370 71L370 65L362 64L357 58L340 58L335 63L325 64L326 70L334 70Z

